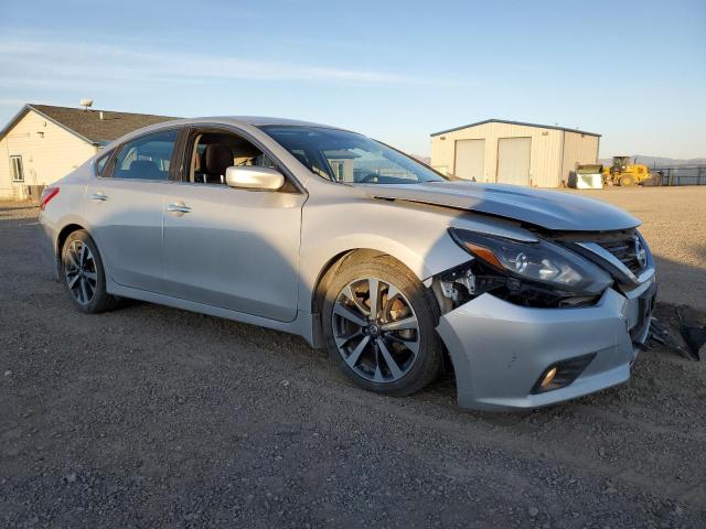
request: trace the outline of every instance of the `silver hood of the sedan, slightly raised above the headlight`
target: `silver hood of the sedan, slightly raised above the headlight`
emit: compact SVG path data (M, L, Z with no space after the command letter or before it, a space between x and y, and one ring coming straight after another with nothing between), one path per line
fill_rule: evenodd
M361 186L363 187L363 186ZM448 206L512 218L552 230L609 231L641 223L599 201L557 191L475 182L365 185L371 197Z

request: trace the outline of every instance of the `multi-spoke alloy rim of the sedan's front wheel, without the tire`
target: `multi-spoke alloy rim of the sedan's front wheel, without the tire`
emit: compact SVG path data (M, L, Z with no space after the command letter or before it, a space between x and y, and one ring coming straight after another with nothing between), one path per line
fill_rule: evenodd
M414 366L420 333L409 300L377 278L349 283L338 295L333 337L344 361L373 382L394 382Z

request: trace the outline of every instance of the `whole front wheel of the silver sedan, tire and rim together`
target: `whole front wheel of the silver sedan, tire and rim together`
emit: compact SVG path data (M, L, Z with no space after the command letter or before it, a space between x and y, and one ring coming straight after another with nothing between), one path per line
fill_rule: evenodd
M435 380L441 367L436 301L387 256L352 259L335 272L322 305L334 364L357 386L403 396Z

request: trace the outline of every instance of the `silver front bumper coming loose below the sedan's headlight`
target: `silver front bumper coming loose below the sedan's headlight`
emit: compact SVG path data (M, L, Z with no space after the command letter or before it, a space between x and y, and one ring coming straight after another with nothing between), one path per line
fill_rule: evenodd
M461 408L518 410L625 382L646 339L654 280L623 295L606 291L580 309L530 309L483 294L441 316L437 331L456 373ZM568 386L533 393L553 364L595 355Z

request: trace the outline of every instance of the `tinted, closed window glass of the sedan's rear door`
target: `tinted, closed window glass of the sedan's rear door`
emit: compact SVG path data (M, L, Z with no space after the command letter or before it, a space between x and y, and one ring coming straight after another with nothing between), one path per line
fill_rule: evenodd
M130 180L169 180L178 137L178 130L165 130L126 143L116 158L113 176Z

